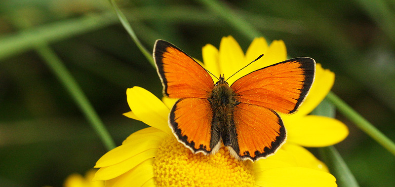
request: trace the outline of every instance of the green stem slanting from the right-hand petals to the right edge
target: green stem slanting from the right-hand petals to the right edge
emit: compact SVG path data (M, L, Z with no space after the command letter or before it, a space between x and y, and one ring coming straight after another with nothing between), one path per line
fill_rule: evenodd
M377 130L369 121L354 111L349 105L341 100L334 93L329 92L326 98L341 112L344 116L356 124L362 131L372 137L376 142L382 145L385 149L395 155L395 144L383 133Z

